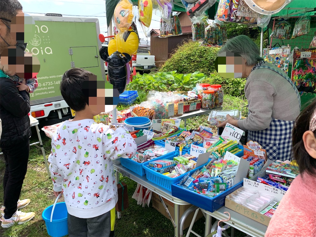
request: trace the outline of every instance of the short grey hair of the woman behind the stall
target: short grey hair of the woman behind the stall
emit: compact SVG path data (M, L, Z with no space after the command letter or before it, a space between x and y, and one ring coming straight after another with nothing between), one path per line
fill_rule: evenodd
M260 57L260 50L256 43L246 35L238 35L233 39L227 40L217 55L222 52L238 53L246 60L247 66L255 65L258 61L263 60L263 58Z

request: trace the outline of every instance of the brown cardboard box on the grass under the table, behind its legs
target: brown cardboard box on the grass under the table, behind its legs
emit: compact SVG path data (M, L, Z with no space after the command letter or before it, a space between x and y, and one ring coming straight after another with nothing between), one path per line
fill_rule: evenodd
M161 199L160 197L158 196L158 194L154 193L152 194L151 196L151 199L153 201L153 207L158 210L162 215L166 216L168 219L169 219L169 215L167 213L167 211L165 210L165 207L163 206L163 204L161 203ZM162 198L163 201L165 202L169 212L170 212L170 215L172 217L172 219L174 220L174 204L171 203L170 201L168 201L167 199L165 198ZM192 205L180 205L180 218L181 216L183 215L183 213L189 208L191 207ZM194 216L194 212L190 213L189 216L187 216L185 222L184 222L184 225L183 225L183 229L186 229L190 226L191 224L191 221L193 219L193 216ZM197 214L197 218L195 219L195 221L197 221L198 219L200 219L201 217L203 216L203 213L201 211L198 212Z

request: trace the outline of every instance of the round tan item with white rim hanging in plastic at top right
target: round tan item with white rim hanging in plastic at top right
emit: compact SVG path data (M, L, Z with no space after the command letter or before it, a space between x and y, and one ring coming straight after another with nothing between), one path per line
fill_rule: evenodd
M262 15L272 15L281 11L292 0L245 0L246 4L255 12Z

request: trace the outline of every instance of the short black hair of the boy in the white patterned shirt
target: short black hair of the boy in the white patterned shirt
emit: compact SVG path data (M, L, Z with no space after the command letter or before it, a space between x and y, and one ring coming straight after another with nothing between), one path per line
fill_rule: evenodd
M89 76L89 71L81 68L72 68L66 71L60 82L60 92L66 103L74 111L81 111L87 105L87 98L82 92L82 82Z

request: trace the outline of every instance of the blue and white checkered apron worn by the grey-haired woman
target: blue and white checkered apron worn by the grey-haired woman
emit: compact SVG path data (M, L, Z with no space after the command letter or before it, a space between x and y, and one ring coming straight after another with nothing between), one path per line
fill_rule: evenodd
M258 66L257 68L269 68L283 76L295 89L301 105L299 92L288 76L281 74L270 66ZM248 131L248 141L252 140L258 142L262 146L262 149L266 150L267 157L270 160L291 160L293 125L294 121L284 121L272 118L270 126L267 129L261 131Z

